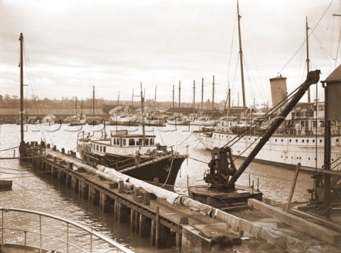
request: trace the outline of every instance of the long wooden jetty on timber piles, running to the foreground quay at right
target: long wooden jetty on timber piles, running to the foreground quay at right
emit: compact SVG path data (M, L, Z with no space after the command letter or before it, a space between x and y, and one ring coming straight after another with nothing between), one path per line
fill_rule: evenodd
M286 252L300 243L307 246L307 238L313 242L307 249L320 244L329 252L341 252L337 249L341 246L340 231L320 230L308 220L300 221L305 225L305 230L299 230L291 214L266 208L259 204L260 201L249 202L253 210L244 210L244 216L239 217L237 213L225 213L188 197L178 204L169 203L141 187L127 189L124 181L113 182L75 166L82 160L75 157L74 152L65 152L64 149L60 152L55 146L50 148L50 145L45 148L43 143L38 145L38 142L26 143L26 150L28 157L22 159L33 164L35 169L50 172L53 179L58 179L81 198L88 199L103 213L112 213L118 223L130 223L131 232L139 237L149 237L151 246L156 249L174 247L177 252L205 253L211 251L210 240L213 237L227 235L232 237L234 248L239 252ZM154 184L157 182L156 179ZM196 203L205 208L196 208ZM313 233L304 234L303 240L300 232L309 234L310 230ZM323 237L317 239L316 235L321 231Z

